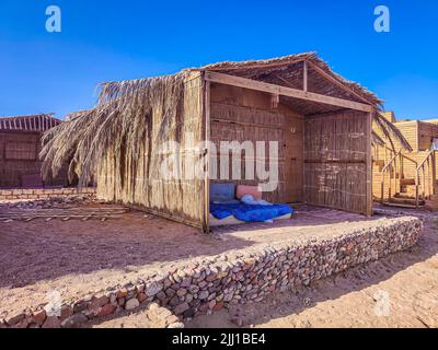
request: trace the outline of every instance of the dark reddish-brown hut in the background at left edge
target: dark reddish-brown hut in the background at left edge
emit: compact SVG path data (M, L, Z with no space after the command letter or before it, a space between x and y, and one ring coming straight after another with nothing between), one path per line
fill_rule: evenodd
M42 187L43 132L61 121L50 114L20 117L0 117L0 187ZM67 177L64 177L66 179ZM60 185L62 178L47 179L48 185Z

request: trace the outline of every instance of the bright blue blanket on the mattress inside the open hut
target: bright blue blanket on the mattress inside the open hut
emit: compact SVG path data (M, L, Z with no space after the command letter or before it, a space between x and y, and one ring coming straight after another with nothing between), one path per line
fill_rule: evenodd
M245 222L264 222L291 214L293 209L286 205L250 206L243 203L210 203L210 212L219 220L233 215L235 219Z

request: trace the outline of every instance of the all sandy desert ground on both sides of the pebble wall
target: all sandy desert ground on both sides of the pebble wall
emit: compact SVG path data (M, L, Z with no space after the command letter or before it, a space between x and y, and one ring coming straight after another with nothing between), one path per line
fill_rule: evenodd
M427 212L410 214L425 221L418 245L410 250L298 292L195 317L186 327L437 327L438 222ZM297 240L331 235L364 222L360 215L312 208L298 209L287 222L216 229L212 235L137 211L105 222L1 222L0 317L45 303L54 290L62 300L74 300L195 257L280 241L291 232ZM382 293L389 295L388 315L374 312ZM149 316L147 311L122 313L87 326L158 327Z

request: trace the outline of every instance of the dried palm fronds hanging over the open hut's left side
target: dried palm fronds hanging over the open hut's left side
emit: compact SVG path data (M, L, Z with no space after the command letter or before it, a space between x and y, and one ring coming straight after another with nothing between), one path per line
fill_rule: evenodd
M69 161L69 178L78 175L79 186L87 186L108 151L116 159L130 160L129 166L136 167L154 114L176 118L182 96L183 74L102 84L93 109L76 114L45 133L43 176L56 176L62 163ZM163 138L165 131L163 125L157 137ZM126 164L117 164L114 171L120 174Z

